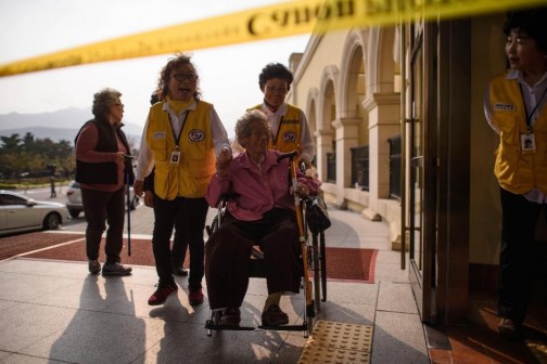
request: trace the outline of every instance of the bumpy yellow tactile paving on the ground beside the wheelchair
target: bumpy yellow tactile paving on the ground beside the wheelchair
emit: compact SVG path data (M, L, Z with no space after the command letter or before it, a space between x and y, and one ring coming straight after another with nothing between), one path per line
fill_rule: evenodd
M372 326L318 321L297 364L370 363Z

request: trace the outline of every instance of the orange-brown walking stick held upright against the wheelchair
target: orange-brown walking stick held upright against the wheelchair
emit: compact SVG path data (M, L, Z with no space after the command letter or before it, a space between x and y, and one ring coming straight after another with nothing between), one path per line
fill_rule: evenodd
M309 282L309 273L308 273L308 261L307 261L307 247L306 247L306 235L304 232L304 220L302 217L302 209L301 209L301 199L298 195L296 194L296 186L298 184L298 181L296 179L296 168L297 162L294 160L294 157L298 155L298 152L294 151L288 154L281 155L278 160L283 159L283 158L289 158L289 170L291 174L291 183L293 187L293 195L294 195L294 205L295 205L295 210L296 210L296 222L298 223L298 239L301 243L301 249L302 249L302 264L303 264L303 270L304 270L304 292L306 295L306 316L307 317L314 317L315 312L314 312L314 301L311 299L311 283ZM311 320L307 321L308 325L308 332L311 330L313 328L313 323Z

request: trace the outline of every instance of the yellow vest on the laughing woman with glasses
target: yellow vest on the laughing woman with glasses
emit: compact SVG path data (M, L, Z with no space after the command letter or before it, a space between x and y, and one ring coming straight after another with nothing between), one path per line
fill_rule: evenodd
M163 103L150 108L147 143L155 164L154 191L163 199L203 197L215 173L215 148L211 131L212 105L199 101L195 110L189 110L180 133L178 165L171 165L171 152L176 150L169 113Z

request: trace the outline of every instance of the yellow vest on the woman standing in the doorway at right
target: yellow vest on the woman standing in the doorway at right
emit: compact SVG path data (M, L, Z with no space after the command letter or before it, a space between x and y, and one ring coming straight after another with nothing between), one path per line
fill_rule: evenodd
M533 188L547 194L547 109L545 106L540 109L534 123L536 150L522 151L526 112L519 82L505 79L506 75L507 72L496 76L489 86L492 121L500 130L494 173L499 185L514 194L525 194Z

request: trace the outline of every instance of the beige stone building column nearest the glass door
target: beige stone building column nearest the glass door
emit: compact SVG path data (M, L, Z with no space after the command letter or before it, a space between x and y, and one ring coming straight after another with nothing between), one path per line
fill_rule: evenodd
M378 220L378 202L390 198L390 143L400 133L399 93L374 93L365 99L362 107L369 113L369 206L362 214Z

